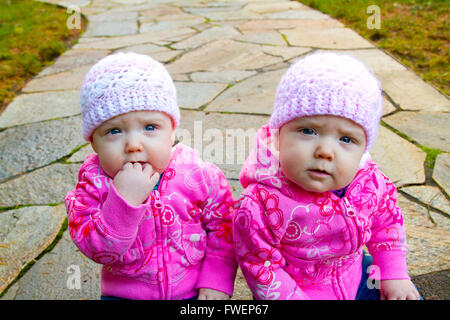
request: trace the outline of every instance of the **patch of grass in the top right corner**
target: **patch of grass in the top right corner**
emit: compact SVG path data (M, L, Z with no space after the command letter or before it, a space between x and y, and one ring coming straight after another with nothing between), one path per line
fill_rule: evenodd
M448 0L297 0L338 19L450 95ZM380 28L369 29L367 7L380 8Z

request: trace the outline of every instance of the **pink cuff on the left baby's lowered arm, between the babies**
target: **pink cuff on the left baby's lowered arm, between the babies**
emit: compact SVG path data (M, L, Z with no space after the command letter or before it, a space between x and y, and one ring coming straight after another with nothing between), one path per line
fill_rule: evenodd
M234 280L236 278L237 262L217 256L206 256L196 289L208 288L233 296Z

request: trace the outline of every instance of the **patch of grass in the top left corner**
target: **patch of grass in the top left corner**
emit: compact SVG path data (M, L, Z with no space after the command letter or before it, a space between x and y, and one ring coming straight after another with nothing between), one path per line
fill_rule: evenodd
M71 47L65 8L33 0L0 0L0 113L27 80Z

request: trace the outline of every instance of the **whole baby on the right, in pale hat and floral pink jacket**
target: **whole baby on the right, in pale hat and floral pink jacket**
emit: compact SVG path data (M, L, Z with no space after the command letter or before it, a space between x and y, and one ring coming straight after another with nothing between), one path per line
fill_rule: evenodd
M378 81L349 56L311 54L282 77L233 218L256 299L420 298L396 188L368 154L381 112Z

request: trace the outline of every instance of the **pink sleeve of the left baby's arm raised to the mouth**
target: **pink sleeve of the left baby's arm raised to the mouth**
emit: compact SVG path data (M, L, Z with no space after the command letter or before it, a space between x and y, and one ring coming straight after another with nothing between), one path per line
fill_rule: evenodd
M70 235L76 246L100 264L130 264L137 260L138 250L132 247L148 203L129 205L110 178L99 178L85 165L80 168L78 181L64 199Z

